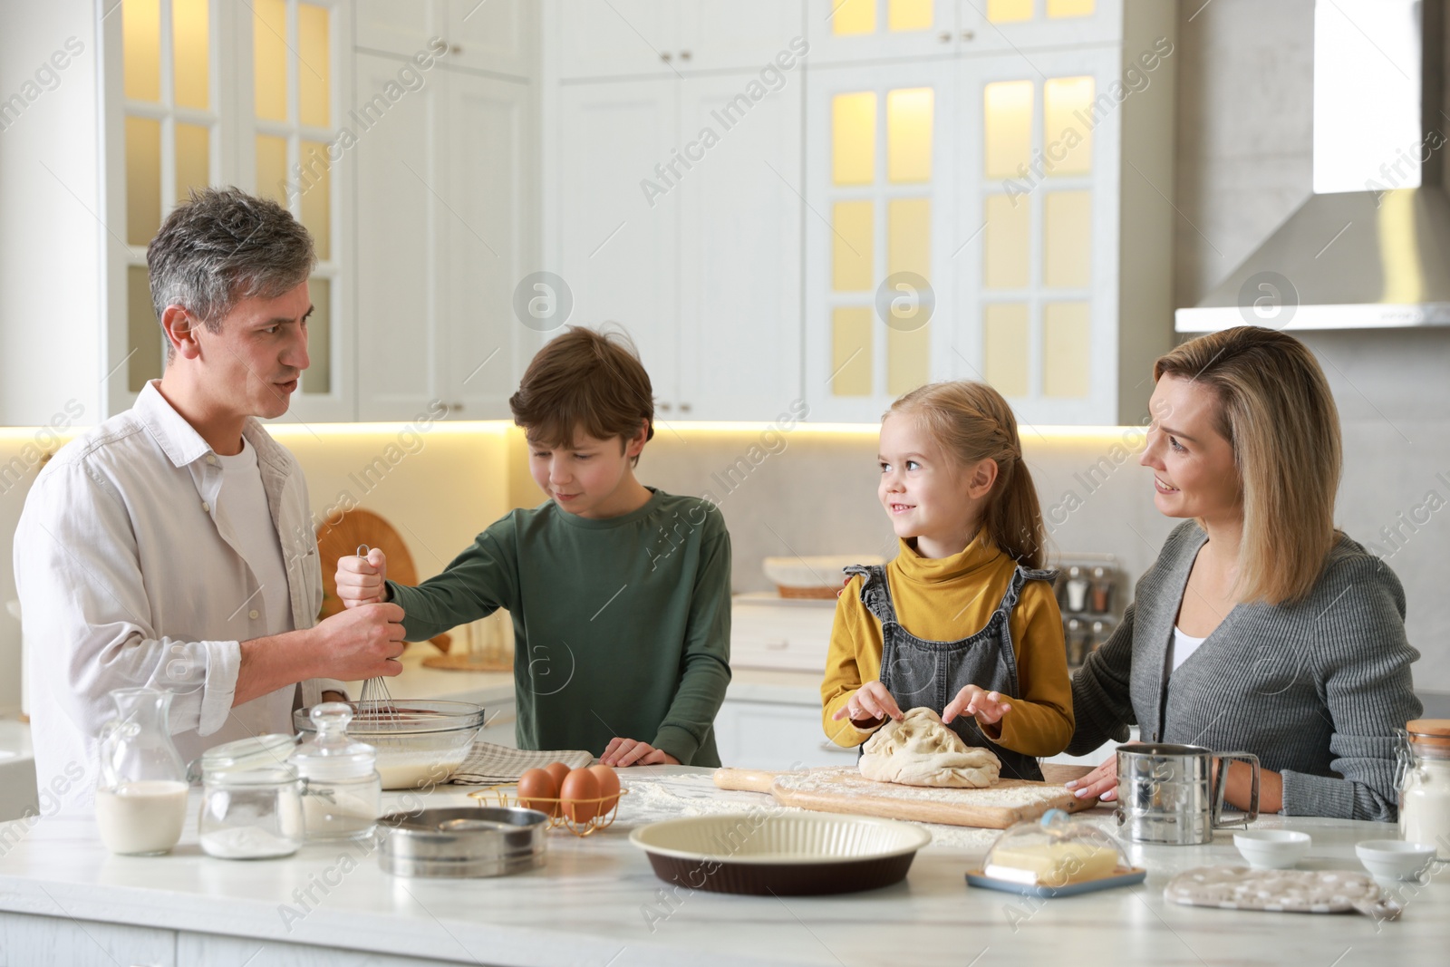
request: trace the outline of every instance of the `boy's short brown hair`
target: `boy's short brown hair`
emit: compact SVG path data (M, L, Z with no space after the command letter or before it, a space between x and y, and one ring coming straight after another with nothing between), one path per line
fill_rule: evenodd
M550 339L523 371L509 409L531 444L550 448L573 445L576 433L626 442L639 423L648 423L645 439L654 436L650 374L629 338L618 332L570 326Z

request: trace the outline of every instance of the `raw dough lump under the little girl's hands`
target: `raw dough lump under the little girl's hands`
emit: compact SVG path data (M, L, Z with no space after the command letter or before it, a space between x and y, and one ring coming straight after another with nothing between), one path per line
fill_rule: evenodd
M980 789L998 781L1000 768L990 750L969 747L927 707L883 725L861 754L861 776L903 786Z

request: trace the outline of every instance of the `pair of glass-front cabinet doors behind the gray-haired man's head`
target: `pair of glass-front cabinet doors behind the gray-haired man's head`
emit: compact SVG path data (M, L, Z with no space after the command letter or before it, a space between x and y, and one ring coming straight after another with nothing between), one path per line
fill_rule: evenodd
M236 184L287 207L312 232L310 368L293 419L349 419L349 212L338 165L348 83L347 3L122 0L102 19L106 406L126 409L161 375L146 245L193 188Z

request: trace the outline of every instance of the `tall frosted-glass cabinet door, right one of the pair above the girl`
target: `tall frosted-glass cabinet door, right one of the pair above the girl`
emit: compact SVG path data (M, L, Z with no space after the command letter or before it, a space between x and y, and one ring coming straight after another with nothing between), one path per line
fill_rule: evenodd
M1025 1L1025 0L1024 0ZM1115 423L1118 49L963 58L954 377L1027 423ZM1132 175L1137 177L1137 175Z

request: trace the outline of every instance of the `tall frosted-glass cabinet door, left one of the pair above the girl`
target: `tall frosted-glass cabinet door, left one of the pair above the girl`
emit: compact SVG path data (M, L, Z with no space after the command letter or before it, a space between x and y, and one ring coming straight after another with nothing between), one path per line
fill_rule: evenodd
M805 389L812 419L876 420L951 371L957 62L806 78Z

